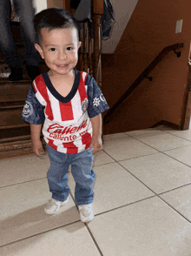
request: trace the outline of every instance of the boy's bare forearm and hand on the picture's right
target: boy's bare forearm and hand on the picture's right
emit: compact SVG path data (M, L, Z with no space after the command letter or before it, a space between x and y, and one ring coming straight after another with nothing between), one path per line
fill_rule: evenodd
M94 118L90 118L90 121L92 124L93 134L88 150L94 146L94 150L92 152L94 155L95 152L102 151L102 114L99 114Z

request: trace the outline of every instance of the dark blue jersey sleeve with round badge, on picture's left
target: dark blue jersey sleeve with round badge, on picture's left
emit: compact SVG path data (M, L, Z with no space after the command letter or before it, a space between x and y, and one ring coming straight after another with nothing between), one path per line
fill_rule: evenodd
M44 106L37 100L32 84L23 106L22 118L25 122L33 125L43 125L44 123Z

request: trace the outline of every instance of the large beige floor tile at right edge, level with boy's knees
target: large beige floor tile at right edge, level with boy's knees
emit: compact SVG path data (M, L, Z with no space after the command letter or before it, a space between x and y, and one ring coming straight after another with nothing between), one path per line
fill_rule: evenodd
M156 193L191 182L190 168L162 153L124 160L120 164Z

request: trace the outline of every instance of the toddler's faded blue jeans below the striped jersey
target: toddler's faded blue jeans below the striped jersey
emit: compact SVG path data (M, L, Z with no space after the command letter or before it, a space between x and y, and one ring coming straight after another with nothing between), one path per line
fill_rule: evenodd
M65 201L69 196L68 172L71 165L71 173L76 182L75 201L76 205L89 205L94 198L93 185L95 183L95 172L92 170L94 156L91 150L85 150L77 154L65 154L57 152L47 146L50 160L47 179L49 192L52 199Z

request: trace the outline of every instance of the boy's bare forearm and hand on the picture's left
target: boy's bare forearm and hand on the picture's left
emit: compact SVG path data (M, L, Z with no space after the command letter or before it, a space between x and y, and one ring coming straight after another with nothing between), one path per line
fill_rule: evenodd
M30 124L30 134L32 139L32 149L36 156L41 157L44 153L40 140L42 125Z

